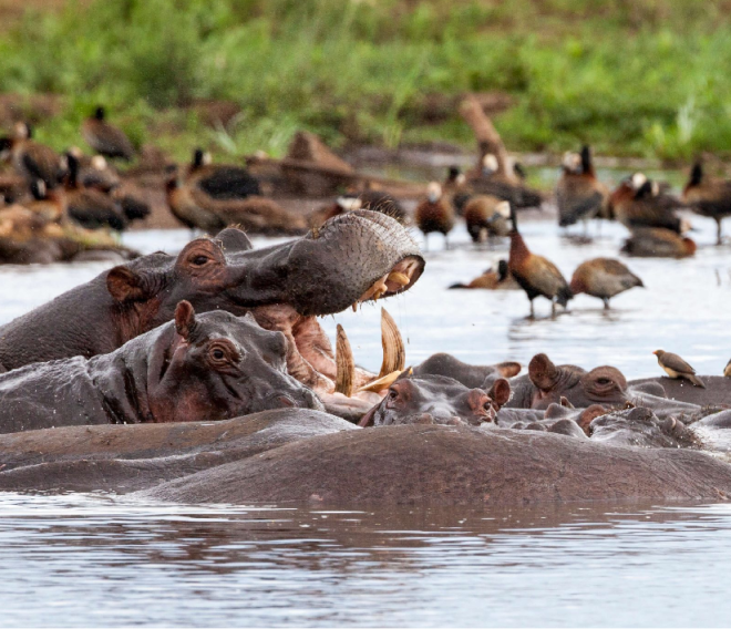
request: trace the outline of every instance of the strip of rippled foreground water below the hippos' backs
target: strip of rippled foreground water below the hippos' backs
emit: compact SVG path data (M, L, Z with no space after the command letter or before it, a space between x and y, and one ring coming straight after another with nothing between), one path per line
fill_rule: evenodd
M731 506L0 495L2 626L728 626Z

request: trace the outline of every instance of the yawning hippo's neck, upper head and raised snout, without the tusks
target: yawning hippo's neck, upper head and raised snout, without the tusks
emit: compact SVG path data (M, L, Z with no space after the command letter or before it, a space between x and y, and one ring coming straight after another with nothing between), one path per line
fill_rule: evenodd
M423 268L415 241L380 213L343 214L302 238L261 249L229 228L215 240L193 240L177 257L157 252L117 266L1 327L0 365L112 352L173 319L186 299L198 312L253 310L264 328L282 330L292 347L288 365L305 381L317 371L301 361L299 337L312 352L325 348L313 316L402 292ZM393 272L400 276L389 279Z

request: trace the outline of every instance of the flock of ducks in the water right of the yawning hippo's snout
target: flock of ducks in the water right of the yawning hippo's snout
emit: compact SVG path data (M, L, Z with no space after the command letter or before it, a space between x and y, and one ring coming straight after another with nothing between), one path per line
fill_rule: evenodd
M556 305L565 308L578 293L597 297L609 308L609 300L616 295L644 286L626 265L610 258L585 261L570 282L566 281L549 259L531 252L518 231L516 209L540 204L539 195L524 185L524 172L517 169L519 179L513 183L501 179L497 161L491 154L484 155L478 166L478 171L467 174L451 167L443 184L429 185L428 197L414 213L425 241L431 233L441 233L446 238L459 216L464 218L475 243L490 237L509 238L508 259L501 260L496 270L488 269L470 284L452 288L522 288L531 301L533 317L533 300L539 296L550 300L555 313ZM616 220L631 233L624 252L636 257L682 258L693 255L697 246L686 237L691 226L678 210L690 208L714 219L721 244L722 219L731 215L731 181L711 178L696 163L681 199L669 194L668 185L641 173L630 175L610 192L597 179L590 150L584 146L580 153L566 153L563 158L556 204L559 226L583 223L585 238L588 220Z

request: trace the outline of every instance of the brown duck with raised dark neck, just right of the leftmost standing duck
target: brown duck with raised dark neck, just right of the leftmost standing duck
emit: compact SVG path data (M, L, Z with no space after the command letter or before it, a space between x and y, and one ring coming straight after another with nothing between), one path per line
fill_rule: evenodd
M65 157L69 173L64 181L64 197L69 218L87 229L125 230L130 220L122 207L105 193L79 184L79 161L71 154Z

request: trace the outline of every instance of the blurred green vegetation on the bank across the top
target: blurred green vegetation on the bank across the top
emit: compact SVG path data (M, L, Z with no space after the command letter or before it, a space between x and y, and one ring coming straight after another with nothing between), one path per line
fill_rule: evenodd
M731 2L684 0L93 0L28 12L0 41L0 92L60 93L38 127L79 144L96 103L133 141L281 154L299 127L334 146L472 145L450 104L504 92L507 146L731 157ZM227 130L189 109L230 100Z

